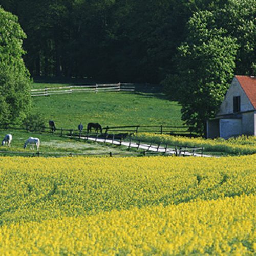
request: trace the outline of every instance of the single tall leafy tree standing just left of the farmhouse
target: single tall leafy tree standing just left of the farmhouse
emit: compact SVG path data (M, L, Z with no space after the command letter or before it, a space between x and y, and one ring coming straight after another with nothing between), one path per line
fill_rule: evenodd
M182 120L201 134L227 91L238 48L236 39L214 24L209 11L190 18L187 40L178 48L178 74L166 79L168 94L174 93L182 104Z

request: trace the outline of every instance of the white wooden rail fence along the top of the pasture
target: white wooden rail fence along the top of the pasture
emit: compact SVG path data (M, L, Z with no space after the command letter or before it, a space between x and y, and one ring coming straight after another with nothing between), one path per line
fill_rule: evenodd
M134 91L133 83L85 84L79 86L46 87L31 89L31 96L49 96L53 94L66 94L76 92L129 92Z

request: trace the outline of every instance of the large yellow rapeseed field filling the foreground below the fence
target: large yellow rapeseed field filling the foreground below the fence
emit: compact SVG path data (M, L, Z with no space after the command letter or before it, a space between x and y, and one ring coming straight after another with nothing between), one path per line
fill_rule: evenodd
M0 254L254 254L256 155L0 157Z

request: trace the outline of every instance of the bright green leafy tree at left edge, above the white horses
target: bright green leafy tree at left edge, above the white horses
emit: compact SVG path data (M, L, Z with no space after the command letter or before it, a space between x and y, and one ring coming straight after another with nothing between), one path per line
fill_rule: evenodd
M24 65L25 33L18 18L0 7L0 123L21 122L31 107L30 74Z

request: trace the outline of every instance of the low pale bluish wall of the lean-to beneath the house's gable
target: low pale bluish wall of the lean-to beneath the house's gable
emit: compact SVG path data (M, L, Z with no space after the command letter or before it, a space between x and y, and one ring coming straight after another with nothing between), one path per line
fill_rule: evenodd
M228 139L242 134L242 119L220 119L220 137Z

